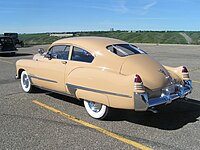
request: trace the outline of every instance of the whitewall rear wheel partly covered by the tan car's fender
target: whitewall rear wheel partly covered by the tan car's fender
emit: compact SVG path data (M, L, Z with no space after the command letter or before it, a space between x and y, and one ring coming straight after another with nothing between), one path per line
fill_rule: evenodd
M105 119L108 116L108 106L84 100L84 106L88 114L95 119Z

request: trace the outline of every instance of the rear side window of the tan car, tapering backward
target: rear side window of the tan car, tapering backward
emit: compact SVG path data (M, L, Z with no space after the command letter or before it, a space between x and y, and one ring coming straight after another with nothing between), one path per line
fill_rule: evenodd
M94 57L88 51L79 47L73 47L71 60L91 63L93 59Z

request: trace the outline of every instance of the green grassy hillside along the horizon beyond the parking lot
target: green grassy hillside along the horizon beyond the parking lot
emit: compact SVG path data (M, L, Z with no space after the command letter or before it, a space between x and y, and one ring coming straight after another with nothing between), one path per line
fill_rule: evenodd
M200 44L200 32L181 32L192 39L192 44ZM59 34L59 33L57 33ZM57 35L56 34L56 35ZM20 34L19 38L24 40L26 45L50 44L63 37L50 36L47 33ZM101 36L121 39L130 43L158 43L158 44L188 44L188 41L180 32L164 31L95 31L95 32L74 32L74 36Z

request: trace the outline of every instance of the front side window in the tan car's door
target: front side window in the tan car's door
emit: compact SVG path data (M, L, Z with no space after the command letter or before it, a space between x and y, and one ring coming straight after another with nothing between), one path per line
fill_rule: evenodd
M49 54L54 59L68 60L69 50L69 45L56 45L50 49Z

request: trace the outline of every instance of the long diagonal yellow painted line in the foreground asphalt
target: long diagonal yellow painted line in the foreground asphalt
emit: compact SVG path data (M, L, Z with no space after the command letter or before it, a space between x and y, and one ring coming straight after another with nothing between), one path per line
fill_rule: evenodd
M41 106L41 107L44 107L44 108L46 108L46 109L48 109L48 110L50 110L52 112L58 113L58 114L66 117L66 118L68 118L68 119L70 119L70 120L72 120L74 122L77 122L77 123L80 123L80 124L82 124L82 125L84 125L86 127L95 129L95 130L97 130L97 131L99 131L99 132L101 132L103 134L106 134L106 135L108 135L108 136L110 136L112 138L115 138L115 139L120 140L120 141L122 141L124 143L132 145L132 146L134 146L134 147L136 147L138 149L141 149L141 150L152 150L151 148L146 147L146 146L144 146L144 145L142 145L140 143L137 143L135 141L131 141L131 140L126 139L126 138L124 138L122 136L119 136L119 135L117 135L115 133L112 133L112 132L110 132L108 130L102 129L102 128L100 128L98 126L95 126L95 125L92 125L92 124L90 124L88 122L82 121L82 120L80 120L80 119L78 119L78 118L76 118L74 116L68 115L68 114L66 114L64 112L61 112L60 110L57 110L57 109L55 109L53 107L50 107L50 106L48 106L46 104L43 104L43 103L39 102L39 101L33 100L32 102L35 103L35 104L37 104L37 105L39 105L39 106Z

